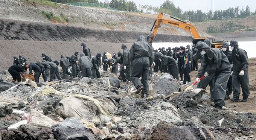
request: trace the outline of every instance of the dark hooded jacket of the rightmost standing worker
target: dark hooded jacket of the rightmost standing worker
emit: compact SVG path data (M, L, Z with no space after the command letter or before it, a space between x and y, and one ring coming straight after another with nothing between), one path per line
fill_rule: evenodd
M247 71L249 65L247 52L239 47L234 47L232 51L232 62L233 71Z

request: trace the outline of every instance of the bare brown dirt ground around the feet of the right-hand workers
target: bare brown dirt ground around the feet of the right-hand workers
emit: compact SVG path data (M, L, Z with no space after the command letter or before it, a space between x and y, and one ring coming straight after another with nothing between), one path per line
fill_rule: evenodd
M199 64L200 65L200 64ZM249 79L250 79L250 96L248 98L247 102L232 102L230 100L225 100L226 107L233 110L237 111L238 113L243 112L243 113L253 113L256 114L255 110L255 102L256 102L256 58L250 58L249 59L249 66L248 66L248 73L249 73ZM194 82L196 79L198 71L193 71L190 73L191 81ZM210 96L210 90L209 86L206 88L207 94ZM230 98L233 97L233 94L230 96ZM242 91L240 94L239 99L242 99Z

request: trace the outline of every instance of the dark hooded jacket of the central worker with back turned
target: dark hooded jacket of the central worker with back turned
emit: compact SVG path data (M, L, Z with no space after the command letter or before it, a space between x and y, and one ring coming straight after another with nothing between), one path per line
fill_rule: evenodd
M133 62L135 58L139 57L149 57L149 65L154 62L154 54L152 51L152 45L145 41L145 37L140 35L137 42L131 46L130 49L130 61Z

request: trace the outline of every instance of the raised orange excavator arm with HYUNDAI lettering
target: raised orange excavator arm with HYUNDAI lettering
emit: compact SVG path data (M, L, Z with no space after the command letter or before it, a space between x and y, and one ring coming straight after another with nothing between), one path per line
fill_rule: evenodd
M154 30L153 30L153 33L152 33L152 37L151 37L150 43L153 42L153 40L154 40L154 38L155 38L159 28L161 27L162 23L165 23L165 24L168 24L168 25L171 25L171 26L175 26L175 27L179 27L181 29L184 29L187 32L191 33L193 38L201 38L199 33L197 32L197 29L195 28L195 26L193 26L190 23L187 23L186 21L182 21L182 20L180 20L178 18L175 18L175 17L172 17L172 16L170 16L170 17L174 18L175 20L178 20L178 21L163 19L163 13L160 13L160 14L157 15L155 23L154 23L154 25L152 27L152 29L154 28ZM151 29L151 31L152 31L152 29ZM148 41L149 41L149 36L148 36Z

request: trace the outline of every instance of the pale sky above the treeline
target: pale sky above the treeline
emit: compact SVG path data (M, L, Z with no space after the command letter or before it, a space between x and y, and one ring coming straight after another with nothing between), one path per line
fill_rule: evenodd
M109 2L111 0L108 0ZM139 8L140 5L152 5L155 7L160 7L160 5L165 2L165 0L131 0L134 1L137 5L137 8ZM174 2L174 5L176 7L180 7L183 11L189 11L189 10L202 10L203 12L208 12L211 9L211 2L210 0L170 0L171 2ZM105 2L105 0L99 0L99 2ZM251 9L251 12L255 12L256 9L256 0L214 0L215 2L215 10L226 10L229 7L236 7L239 6L242 8L242 6L245 7L248 5Z

